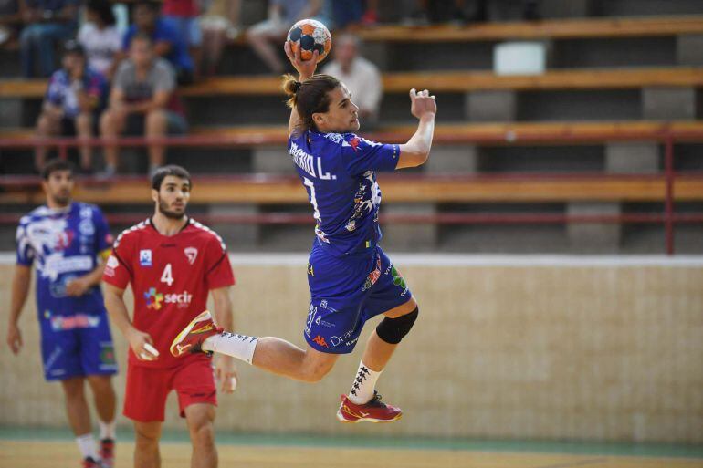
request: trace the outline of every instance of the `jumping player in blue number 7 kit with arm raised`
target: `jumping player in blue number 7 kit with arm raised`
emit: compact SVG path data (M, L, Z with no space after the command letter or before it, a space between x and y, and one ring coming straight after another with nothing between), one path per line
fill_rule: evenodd
M366 344L349 395L342 395L340 421L395 421L399 408L386 405L375 383L398 343L413 327L418 306L403 276L379 246L381 190L377 171L422 165L432 146L435 97L410 91L411 113L419 120L404 144L382 144L356 136L358 110L343 83L313 76L314 52L303 61L289 43L286 54L299 79L285 78L288 93L289 154L308 191L317 222L310 253L310 311L307 349L280 338L255 338L213 329L209 312L196 317L173 340L174 355L219 352L292 379L318 381L340 354L351 353L364 323L383 320Z

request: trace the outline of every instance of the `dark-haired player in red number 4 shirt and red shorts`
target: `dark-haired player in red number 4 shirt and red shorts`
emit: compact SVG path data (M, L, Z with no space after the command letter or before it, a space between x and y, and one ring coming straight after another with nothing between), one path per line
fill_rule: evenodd
M215 467L215 376L223 391L236 387L234 359L219 357L214 375L205 354L182 360L169 352L173 337L205 309L208 291L217 322L232 329L232 266L222 239L185 215L190 190L190 174L182 167L157 170L152 218L120 234L103 276L105 306L130 343L124 415L134 421L137 468L161 465L159 438L171 390L178 393L181 417L190 431L192 465ZM128 284L134 294L133 319L123 298Z

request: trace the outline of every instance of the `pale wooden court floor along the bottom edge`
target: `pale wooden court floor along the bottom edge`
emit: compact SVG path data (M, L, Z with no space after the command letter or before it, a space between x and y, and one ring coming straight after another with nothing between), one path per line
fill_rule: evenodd
M218 443L223 468L703 468L703 457L622 456L598 453L499 452L475 449L293 444ZM121 442L116 468L131 466L133 443ZM190 445L163 442L163 468L190 466ZM0 466L13 468L77 467L77 449L70 441L0 439Z

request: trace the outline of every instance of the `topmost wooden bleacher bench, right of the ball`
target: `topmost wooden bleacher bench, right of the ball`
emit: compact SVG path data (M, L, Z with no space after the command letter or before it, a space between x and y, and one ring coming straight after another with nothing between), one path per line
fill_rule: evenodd
M535 22L483 23L467 26L376 26L356 33L372 42L467 42L511 39L579 39L598 37L703 34L703 16L552 19Z

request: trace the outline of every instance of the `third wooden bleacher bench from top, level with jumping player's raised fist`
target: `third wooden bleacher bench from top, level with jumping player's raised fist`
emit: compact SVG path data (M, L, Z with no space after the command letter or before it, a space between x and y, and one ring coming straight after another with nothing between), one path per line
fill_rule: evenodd
M408 140L413 124L384 126L373 132L360 131L365 138L385 142ZM703 120L681 121L598 121L598 122L517 122L517 123L439 123L435 127L435 144L479 145L567 145L596 144L614 140L658 140L667 131L677 141L703 142ZM238 146L285 145L287 129L283 125L195 127L191 135L225 141L240 139ZM32 140L34 130L0 129L2 140Z

